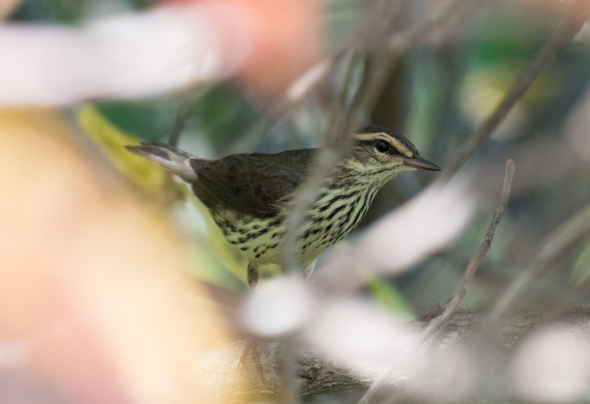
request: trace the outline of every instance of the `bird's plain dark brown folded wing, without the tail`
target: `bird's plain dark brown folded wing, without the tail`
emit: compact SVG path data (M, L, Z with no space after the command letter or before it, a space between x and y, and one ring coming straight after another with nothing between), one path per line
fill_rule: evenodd
M195 161L196 196L209 208L228 206L256 217L275 216L280 201L304 180L314 149L276 154L234 154L215 161Z

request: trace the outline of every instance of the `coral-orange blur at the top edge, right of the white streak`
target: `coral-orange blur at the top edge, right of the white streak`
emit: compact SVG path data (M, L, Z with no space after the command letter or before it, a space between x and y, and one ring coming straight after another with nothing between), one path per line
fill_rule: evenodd
M322 50L317 0L160 0L172 4L208 4L226 10L230 26L249 35L251 50L239 73L255 98L276 96L310 69ZM229 11L233 12L229 12ZM233 20L232 20L233 18ZM234 30L235 31L235 30ZM235 32L231 32L235 34ZM243 34L242 34L243 35ZM235 43L236 37L226 38Z

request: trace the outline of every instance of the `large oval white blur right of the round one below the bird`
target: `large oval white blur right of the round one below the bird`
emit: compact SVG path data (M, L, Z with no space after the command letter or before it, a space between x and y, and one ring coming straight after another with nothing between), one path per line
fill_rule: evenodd
M345 364L369 361L376 373L387 367L412 372L424 360L414 350L416 334L403 320L360 300L325 302L318 307L305 337L331 360Z

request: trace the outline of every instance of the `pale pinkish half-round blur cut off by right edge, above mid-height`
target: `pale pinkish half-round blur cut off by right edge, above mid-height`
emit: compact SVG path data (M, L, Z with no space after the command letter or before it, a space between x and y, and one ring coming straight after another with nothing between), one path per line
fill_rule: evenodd
M586 24L588 24L586 22ZM585 24L585 25L586 25ZM590 88L569 116L565 135L569 149L582 161L590 161Z

